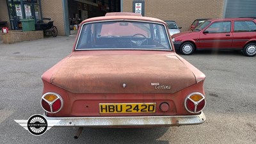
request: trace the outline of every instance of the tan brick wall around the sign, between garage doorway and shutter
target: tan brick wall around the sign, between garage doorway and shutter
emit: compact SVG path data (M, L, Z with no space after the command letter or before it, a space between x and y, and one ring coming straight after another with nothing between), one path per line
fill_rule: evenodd
M175 20L187 31L195 19L222 18L225 0L145 0L145 16ZM124 12L132 12L132 0L123 1Z

